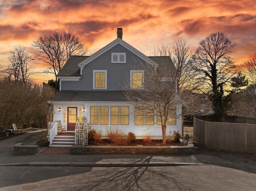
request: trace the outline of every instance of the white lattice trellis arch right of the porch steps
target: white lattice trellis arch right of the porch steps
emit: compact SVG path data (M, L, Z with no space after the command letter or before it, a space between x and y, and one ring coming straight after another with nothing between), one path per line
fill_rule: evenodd
M85 122L76 121L75 129L75 145L85 146L88 145L88 125Z

